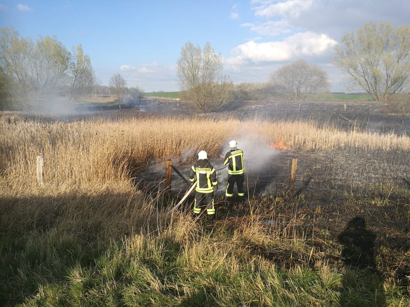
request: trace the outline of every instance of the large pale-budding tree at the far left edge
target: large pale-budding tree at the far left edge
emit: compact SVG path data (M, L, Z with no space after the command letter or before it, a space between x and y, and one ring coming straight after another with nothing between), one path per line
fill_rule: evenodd
M25 108L45 104L64 79L70 53L55 36L39 36L33 42L20 38L13 28L3 28L0 34L0 81L7 83L2 88Z

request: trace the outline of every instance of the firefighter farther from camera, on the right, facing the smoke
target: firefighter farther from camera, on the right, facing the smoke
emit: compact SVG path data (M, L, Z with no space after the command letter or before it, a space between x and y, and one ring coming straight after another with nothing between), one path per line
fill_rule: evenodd
M232 140L229 142L230 151L225 155L223 160L223 165L228 166L228 183L226 185L225 196L228 201L232 199L233 187L237 185L239 201L244 201L245 190L244 190L244 152L237 149L237 142Z

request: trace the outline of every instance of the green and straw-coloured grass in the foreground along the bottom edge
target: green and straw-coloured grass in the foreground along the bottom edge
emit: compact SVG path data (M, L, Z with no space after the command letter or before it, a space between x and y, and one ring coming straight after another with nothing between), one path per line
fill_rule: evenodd
M58 207L64 216L64 201ZM52 223L23 230L21 212L0 230L6 306L410 306L396 281L329 262L337 244L312 253L310 239L258 221L213 227L182 215L159 228L118 231L41 215Z

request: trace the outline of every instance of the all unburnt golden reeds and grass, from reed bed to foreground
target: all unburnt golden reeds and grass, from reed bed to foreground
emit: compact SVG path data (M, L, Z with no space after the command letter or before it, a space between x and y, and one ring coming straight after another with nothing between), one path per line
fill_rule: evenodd
M164 200L130 181L150 160L187 149L192 158L201 149L217 158L227 138L254 137L266 146L283 138L301 150L407 151L408 137L314 122L148 116L63 123L17 113L1 113L0 134L0 250L7 268L0 295L8 305L339 306L344 296L357 305L409 302L394 280L329 264L326 257L340 252L336 242L314 251L305 234L267 229L258 217L212 232L183 214L162 219ZM45 157L42 186L37 155ZM291 260L275 264L255 247L290 251Z

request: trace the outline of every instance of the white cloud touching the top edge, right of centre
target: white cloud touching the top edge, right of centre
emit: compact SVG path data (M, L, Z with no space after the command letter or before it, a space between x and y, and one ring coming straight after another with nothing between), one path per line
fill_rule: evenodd
M313 0L288 0L278 2L267 7L256 8L255 15L270 18L273 16L282 16L286 18L297 19L301 16L302 11L312 7Z

